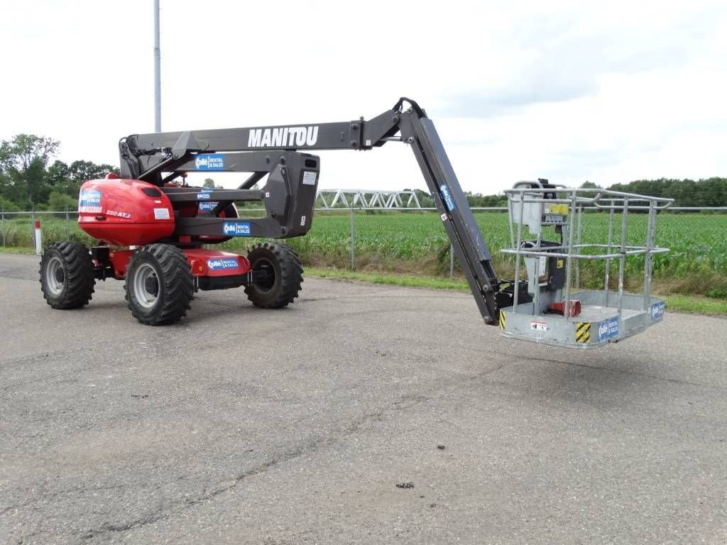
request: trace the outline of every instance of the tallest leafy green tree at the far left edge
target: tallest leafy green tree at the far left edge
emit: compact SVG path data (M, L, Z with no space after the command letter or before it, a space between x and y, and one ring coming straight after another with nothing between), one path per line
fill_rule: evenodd
M2 195L18 206L43 203L50 193L46 166L59 142L35 134L17 134L0 142Z

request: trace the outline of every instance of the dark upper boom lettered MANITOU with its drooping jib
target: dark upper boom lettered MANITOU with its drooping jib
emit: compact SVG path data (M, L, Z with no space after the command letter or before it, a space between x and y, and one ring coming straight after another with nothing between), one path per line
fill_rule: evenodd
M406 110L404 102L409 104ZM270 156L278 156L281 151L370 150L390 141L411 145L480 313L486 323L494 324L499 284L489 249L434 124L414 100L401 98L391 110L366 121L361 118L341 123L132 134L119 142L121 176L161 186L165 181L162 172L194 170L198 155L271 150L277 153ZM241 189L251 187L257 179L260 176L253 174L252 183L243 184Z

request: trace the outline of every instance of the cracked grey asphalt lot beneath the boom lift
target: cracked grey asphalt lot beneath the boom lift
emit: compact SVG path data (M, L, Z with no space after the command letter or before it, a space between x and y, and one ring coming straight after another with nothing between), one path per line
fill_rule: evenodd
M307 279L150 328L115 280L52 310L38 262L0 254L0 543L727 543L727 320L579 352Z

